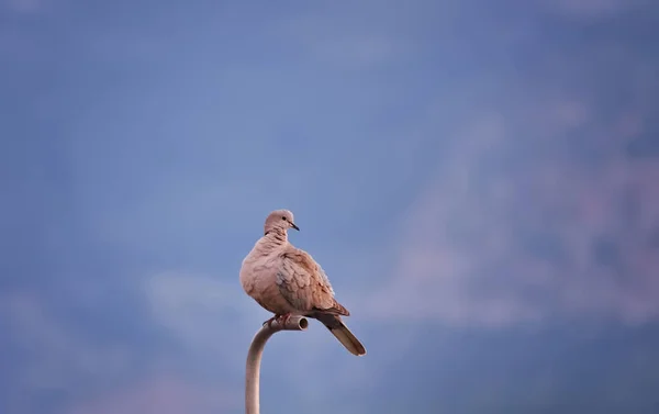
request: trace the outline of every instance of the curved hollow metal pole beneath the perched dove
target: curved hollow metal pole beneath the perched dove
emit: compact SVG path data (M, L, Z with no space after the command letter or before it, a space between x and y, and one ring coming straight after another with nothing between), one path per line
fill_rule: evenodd
M270 325L264 324L260 331L256 333L256 336L252 339L249 353L247 353L245 414L259 414L260 360L270 336L279 331L304 331L306 326L309 326L309 321L305 317L291 316L283 325L275 320Z

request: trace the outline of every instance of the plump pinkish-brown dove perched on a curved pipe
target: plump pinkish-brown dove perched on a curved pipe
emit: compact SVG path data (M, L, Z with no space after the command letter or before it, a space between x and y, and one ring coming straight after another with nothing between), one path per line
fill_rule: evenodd
M264 236L243 259L239 279L245 292L275 315L273 321L286 323L292 315L320 321L353 355L366 355L366 348L348 329L342 316L350 312L334 298L327 275L313 257L294 247L288 231L300 227L289 210L268 214Z

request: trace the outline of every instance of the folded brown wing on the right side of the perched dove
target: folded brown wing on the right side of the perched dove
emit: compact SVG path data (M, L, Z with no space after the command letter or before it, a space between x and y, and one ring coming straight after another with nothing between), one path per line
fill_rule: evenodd
M334 299L327 275L310 254L291 246L282 251L280 258L277 284L293 307L305 313L350 314Z

